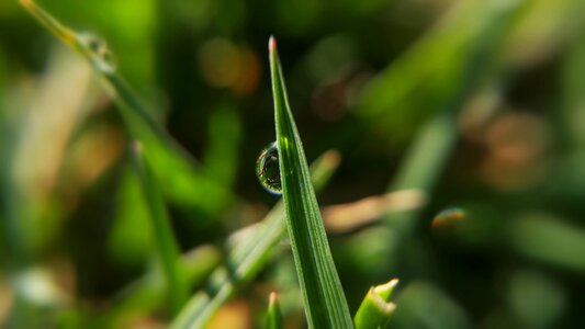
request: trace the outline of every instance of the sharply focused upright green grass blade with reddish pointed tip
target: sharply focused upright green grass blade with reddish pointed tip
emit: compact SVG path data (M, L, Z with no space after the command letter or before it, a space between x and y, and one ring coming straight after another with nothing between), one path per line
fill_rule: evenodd
M351 328L346 296L335 269L301 137L289 106L277 43L269 42L286 227L311 328Z

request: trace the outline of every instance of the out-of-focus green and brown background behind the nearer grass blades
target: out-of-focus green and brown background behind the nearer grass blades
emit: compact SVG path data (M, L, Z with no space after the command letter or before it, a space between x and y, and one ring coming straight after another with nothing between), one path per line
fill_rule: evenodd
M196 159L200 185L155 168L183 252L221 258L279 200L255 173L274 35L307 160L341 157L319 204L352 314L398 277L393 328L585 328L584 1L40 2ZM0 322L165 327L115 304L155 248L128 140L83 58L1 1ZM214 328L258 326L271 290L304 326L282 249Z

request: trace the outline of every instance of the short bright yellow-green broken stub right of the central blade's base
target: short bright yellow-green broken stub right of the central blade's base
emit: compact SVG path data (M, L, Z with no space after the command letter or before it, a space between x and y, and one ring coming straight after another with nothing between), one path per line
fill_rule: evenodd
M396 284L398 284L398 280L393 279L385 284L372 286L368 291L353 318L356 329L386 328L396 308L396 305L390 302L390 296Z

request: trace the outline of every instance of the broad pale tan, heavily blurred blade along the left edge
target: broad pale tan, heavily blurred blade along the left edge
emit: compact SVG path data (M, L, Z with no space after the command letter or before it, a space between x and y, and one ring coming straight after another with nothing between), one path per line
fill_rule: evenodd
M47 57L43 79L26 101L12 105L19 111L0 127L0 212L5 216L0 234L5 234L9 266L14 269L31 265L60 234L66 211L57 205L55 192L68 144L86 117L90 90L91 70L78 56L59 48ZM18 90L10 93L24 97Z

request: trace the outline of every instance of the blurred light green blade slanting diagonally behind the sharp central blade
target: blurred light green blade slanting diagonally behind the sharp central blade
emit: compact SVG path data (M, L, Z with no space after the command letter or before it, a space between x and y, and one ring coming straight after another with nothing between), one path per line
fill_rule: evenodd
M311 166L315 190L320 190L339 164L339 155L327 151ZM210 275L205 287L195 293L171 328L205 328L211 318L237 291L265 266L285 231L282 202L243 240L229 248L226 265ZM233 237L233 236L232 236Z

